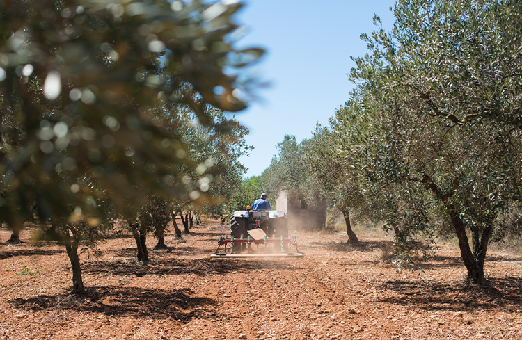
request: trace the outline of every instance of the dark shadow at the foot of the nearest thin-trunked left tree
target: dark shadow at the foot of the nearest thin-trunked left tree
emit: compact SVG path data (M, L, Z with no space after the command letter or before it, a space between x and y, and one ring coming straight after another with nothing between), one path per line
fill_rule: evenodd
M174 318L188 322L192 318L214 317L209 315L207 309L216 305L216 300L195 296L189 289L104 286L91 287L82 295L40 295L13 299L9 303L18 309L33 311L73 310L107 316Z

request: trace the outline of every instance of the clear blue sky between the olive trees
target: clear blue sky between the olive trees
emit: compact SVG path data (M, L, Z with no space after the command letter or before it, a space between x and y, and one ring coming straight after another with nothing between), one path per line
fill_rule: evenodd
M258 89L259 100L236 117L248 129L246 141L255 149L240 161L246 176L260 175L277 154L285 134L298 142L310 138L316 122L328 124L335 108L344 104L353 84L347 73L354 66L350 56L366 53L359 37L381 17L392 26L388 8L393 0L245 0L237 15L248 33L239 47L262 47L267 54L255 74L269 82Z

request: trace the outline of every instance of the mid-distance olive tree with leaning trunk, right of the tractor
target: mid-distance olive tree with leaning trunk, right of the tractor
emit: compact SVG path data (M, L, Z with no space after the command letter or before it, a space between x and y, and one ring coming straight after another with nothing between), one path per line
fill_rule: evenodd
M349 240L356 243L350 213L359 218L371 214L351 168L338 156L340 144L334 131L317 125L313 138L297 143L295 136L285 136L277 146L278 155L262 174L268 193L275 197L285 191L290 200L306 202L310 207L327 200L342 212Z

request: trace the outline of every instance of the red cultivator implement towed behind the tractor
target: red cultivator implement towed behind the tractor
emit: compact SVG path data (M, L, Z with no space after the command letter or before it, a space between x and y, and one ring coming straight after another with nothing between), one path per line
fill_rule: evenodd
M246 238L219 236L218 247L210 257L302 257L295 236L268 238L261 229L248 231ZM254 235L254 236L253 236ZM262 236L262 237L259 237ZM257 238L257 239L256 239ZM255 247L254 247L255 245ZM292 251L295 250L295 251Z

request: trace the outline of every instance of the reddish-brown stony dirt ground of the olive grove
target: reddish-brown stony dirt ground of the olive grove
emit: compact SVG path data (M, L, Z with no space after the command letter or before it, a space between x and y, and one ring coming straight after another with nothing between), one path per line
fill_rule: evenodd
M302 258L211 259L220 234L168 234L170 252L151 237L146 266L131 236L111 238L81 254L75 296L62 246L30 231L8 245L2 228L0 339L522 339L520 254L491 252L477 287L454 246L398 273L389 238L296 232Z

